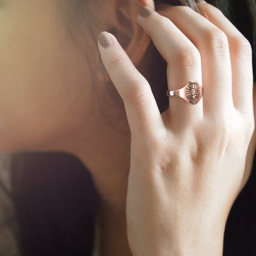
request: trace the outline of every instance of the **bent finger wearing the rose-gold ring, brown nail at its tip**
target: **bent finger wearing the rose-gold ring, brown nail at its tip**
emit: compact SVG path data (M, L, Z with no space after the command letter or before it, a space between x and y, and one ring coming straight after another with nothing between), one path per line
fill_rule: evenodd
M169 90L177 90L189 81L202 84L201 57L198 49L177 26L148 7L141 9L138 23L152 38L154 45L167 62ZM202 119L202 100L191 105L181 98L169 98L170 126L182 129L192 121Z

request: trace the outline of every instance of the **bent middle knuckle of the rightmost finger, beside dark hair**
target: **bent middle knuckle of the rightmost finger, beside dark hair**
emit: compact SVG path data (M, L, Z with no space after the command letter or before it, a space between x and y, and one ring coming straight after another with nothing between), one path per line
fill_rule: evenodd
M230 48L234 54L252 57L252 46L244 36L236 36L231 38Z

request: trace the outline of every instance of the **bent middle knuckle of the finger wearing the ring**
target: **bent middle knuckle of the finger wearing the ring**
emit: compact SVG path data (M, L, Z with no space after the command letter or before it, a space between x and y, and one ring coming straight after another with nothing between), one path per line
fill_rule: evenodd
M174 62L182 62L186 66L197 67L201 63L199 50L193 46L185 46L175 52Z

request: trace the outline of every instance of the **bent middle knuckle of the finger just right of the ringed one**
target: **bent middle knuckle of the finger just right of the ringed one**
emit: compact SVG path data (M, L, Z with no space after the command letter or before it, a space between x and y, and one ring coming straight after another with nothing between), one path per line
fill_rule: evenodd
M228 50L228 37L226 34L218 29L214 28L206 33L207 45L214 52L222 54Z

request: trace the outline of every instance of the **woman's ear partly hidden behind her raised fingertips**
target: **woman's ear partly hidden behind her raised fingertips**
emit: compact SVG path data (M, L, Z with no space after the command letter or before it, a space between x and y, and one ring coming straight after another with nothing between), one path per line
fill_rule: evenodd
M113 2L108 0L109 2ZM121 46L126 50L130 60L135 66L138 65L150 43L150 37L145 33L137 22L137 15L142 6L155 9L153 0L115 0L116 20L113 28L109 31L118 39Z

